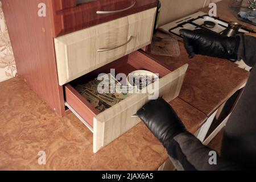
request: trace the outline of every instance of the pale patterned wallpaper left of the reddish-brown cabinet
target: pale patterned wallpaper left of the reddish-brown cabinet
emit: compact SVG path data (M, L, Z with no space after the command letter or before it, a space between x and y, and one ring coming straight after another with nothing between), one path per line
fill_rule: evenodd
M16 65L0 1L0 82L16 76Z

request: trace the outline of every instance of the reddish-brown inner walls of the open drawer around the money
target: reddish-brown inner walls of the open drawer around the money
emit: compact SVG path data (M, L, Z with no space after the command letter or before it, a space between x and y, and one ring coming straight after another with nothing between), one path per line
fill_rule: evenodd
M126 76L138 69L158 73L159 77L164 77L171 72L157 61L144 55L144 53L135 51L130 55L124 56L121 59L115 60L112 63L104 65L104 67L98 68L93 72L69 82L69 84L65 85L65 100L92 128L93 117L99 114L100 111L95 109L75 88L77 85L83 85L94 80L100 73L110 73L110 69L113 68L115 69L115 75L125 73Z

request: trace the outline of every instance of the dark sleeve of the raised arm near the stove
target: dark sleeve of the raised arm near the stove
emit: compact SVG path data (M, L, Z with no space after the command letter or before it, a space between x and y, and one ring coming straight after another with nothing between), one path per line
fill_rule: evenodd
M243 60L253 67L256 61L256 38L249 35L240 35L240 45L237 52L238 60Z

